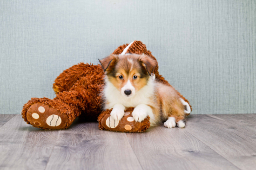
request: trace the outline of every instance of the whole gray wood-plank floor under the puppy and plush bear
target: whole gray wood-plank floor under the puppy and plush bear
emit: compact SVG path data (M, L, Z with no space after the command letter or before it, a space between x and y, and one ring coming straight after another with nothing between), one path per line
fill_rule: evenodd
M0 170L256 170L256 114L190 115L183 129L40 130L0 114Z

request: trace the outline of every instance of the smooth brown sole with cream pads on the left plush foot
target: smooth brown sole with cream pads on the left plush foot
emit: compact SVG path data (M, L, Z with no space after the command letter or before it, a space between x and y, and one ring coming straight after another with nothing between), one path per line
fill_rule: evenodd
M27 110L27 121L34 127L43 129L64 129L68 117L56 108L44 103L34 103Z

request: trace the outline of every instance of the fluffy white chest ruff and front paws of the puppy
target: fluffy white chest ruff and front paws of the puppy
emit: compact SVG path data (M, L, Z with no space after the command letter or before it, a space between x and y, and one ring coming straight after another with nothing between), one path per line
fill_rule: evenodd
M151 107L148 106L148 104L150 103L149 98L154 96L155 93L155 80L153 78L149 77L146 86L141 88L139 91L132 90L132 94L130 94L132 96L127 97L125 94L121 94L123 93L124 89L122 89L122 92L120 93L120 91L115 88L115 86L111 82L109 82L108 78L106 77L106 86L103 93L108 103L105 105L105 109L113 108L110 115L113 116L115 120L121 120L124 115L125 108L135 107L135 110L132 113L135 121L141 122L147 116L149 116L150 123L154 125L155 116ZM128 86L131 90L132 88L130 86L132 85L129 83Z

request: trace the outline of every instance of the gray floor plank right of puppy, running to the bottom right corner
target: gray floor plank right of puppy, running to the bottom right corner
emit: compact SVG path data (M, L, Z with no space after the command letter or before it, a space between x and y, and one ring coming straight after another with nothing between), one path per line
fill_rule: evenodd
M238 168L249 170L256 167L255 133L214 115L199 114L189 116L184 130Z

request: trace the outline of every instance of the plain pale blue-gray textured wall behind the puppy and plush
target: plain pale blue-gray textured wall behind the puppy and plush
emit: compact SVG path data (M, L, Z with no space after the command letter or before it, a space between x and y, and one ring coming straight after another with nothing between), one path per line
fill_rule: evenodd
M0 0L0 113L134 40L193 114L256 113L256 0Z

